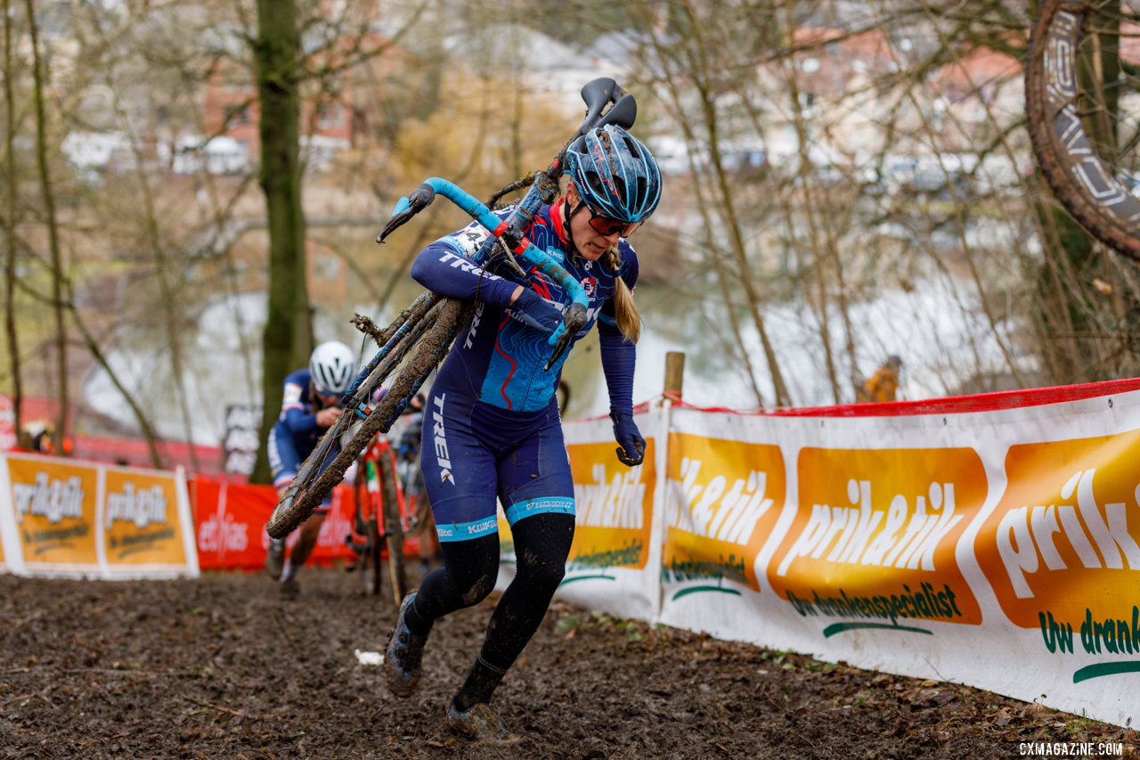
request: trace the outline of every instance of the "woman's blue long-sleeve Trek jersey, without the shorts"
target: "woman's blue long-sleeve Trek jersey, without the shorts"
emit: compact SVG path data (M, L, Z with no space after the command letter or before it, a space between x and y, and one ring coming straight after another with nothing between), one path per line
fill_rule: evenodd
M511 209L497 212L503 219ZM586 323L573 337L570 348L589 333L597 322L602 366L610 391L612 413L629 413L633 409L635 349L618 330L614 318L616 278L621 277L633 290L637 282L637 254L622 240L621 262L611 272L601 261L570 256L571 245L562 231L561 204L544 205L526 232L539 249L554 257L581 283L589 297ZM562 363L570 348L548 372L543 371L553 354L549 334L527 325L510 308L511 297L521 284L561 310L571 297L557 283L531 267L526 278L499 268L499 274L483 272L470 258L487 238L488 232L478 223L446 235L423 251L412 266L412 276L420 284L448 298L474 299L475 310L455 340L440 379L465 378L465 385L480 401L516 412L545 409L554 397L562 373ZM520 261L521 264L521 261Z

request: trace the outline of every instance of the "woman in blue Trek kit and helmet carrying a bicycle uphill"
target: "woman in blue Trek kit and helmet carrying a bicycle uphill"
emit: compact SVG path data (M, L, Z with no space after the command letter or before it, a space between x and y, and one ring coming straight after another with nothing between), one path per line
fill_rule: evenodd
M625 238L657 208L661 176L649 149L614 126L578 137L567 151L564 172L570 175L565 196L542 207L527 238L559 259L589 297L588 318L573 340L598 322L618 456L635 466L645 450L633 421L641 321L632 297L637 257ZM500 500L514 536L515 577L491 615L447 721L473 738L506 739L488 703L538 630L573 539L573 482L555 394L569 350L543 370L549 333L562 324L571 299L536 268L523 278L473 265L469 257L487 236L472 224L429 245L412 268L424 286L447 298L473 299L475 310L424 411L421 466L443 567L404 599L385 670L392 693L409 696L432 623L491 592L499 566Z

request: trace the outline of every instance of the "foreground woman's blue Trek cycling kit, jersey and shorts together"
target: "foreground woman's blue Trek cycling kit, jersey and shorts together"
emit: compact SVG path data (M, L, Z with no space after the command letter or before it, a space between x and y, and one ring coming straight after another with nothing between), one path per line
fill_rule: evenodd
M505 219L510 212L496 213ZM570 256L561 204L542 207L526 235L585 288L587 320L571 347L598 323L611 412L632 413L635 348L618 330L612 296L617 277L630 290L636 284L636 253L622 240L617 270ZM573 515L573 482L555 396L570 349L544 371L553 353L549 333L511 308L519 285L559 309L571 298L537 268L523 278L505 267L492 275L472 264L470 257L487 236L472 224L429 245L412 267L412 276L429 290L477 301L424 409L421 469L445 542L495 533L496 496L512 525L543 512Z

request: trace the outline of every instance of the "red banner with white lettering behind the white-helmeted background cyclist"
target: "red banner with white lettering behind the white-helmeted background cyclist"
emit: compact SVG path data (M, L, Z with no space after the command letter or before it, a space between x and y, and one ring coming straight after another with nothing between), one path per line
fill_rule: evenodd
M190 494L199 567L260 568L269 548L266 524L277 504L277 492L272 486L241 485L199 477L195 478ZM333 491L332 507L320 526L309 564L355 558L356 555L344 545L344 536L351 527L352 499L349 486L337 486ZM296 536L294 531L286 541L287 545L292 547Z

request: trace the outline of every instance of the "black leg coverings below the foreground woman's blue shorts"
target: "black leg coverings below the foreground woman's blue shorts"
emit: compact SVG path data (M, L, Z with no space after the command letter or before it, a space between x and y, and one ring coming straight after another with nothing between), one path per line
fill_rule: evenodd
M490 700L507 669L538 630L565 574L573 539L573 515L532 515L515 523L511 533L518 560L514 580L495 607L483 647L466 682L455 695L455 706L459 711ZM482 601L498 577L498 534L440 545L443 567L424 577L405 617L408 630L415 636L426 636L435 618Z

